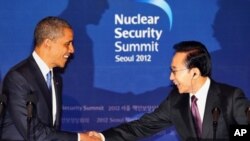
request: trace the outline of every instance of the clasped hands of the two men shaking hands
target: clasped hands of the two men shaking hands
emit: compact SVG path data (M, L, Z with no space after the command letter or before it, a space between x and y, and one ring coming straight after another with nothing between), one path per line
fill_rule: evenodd
M79 133L80 141L105 141L104 136L96 131Z

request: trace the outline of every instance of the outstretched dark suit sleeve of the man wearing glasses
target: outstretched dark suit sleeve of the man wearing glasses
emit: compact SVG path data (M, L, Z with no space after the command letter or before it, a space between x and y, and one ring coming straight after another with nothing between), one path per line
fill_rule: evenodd
M138 120L121 124L102 133L106 141L138 140L171 126L170 113L170 102L166 99L154 112L146 113Z

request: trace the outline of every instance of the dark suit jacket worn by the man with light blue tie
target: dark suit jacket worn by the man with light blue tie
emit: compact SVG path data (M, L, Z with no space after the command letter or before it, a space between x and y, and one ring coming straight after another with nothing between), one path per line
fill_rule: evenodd
M59 131L62 81L56 73L53 79L57 101L54 126L51 94L34 58L29 57L7 73L3 81L3 93L7 95L7 110L2 123L2 140L27 140L27 131L30 131L29 138L35 141L77 141L76 133ZM36 101L30 130L27 130L26 104L29 95L34 95Z

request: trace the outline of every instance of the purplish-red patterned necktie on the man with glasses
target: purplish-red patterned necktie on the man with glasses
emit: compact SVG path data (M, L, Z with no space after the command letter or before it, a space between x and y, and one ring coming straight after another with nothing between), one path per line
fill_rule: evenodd
M202 133L202 123L201 123L201 117L200 117L200 113L199 113L199 109L197 106L197 101L198 99L193 95L191 97L191 111L192 111L192 115L194 118L194 122L195 122L195 129L197 132L198 137L201 137L201 133Z

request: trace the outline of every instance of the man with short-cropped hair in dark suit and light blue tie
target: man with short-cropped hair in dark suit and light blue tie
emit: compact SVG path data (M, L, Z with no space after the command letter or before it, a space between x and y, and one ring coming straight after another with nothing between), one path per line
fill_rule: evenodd
M60 131L63 68L74 53L72 27L58 17L41 20L34 32L35 49L5 76L7 110L1 140L94 141L88 133ZM49 75L48 75L49 74Z

